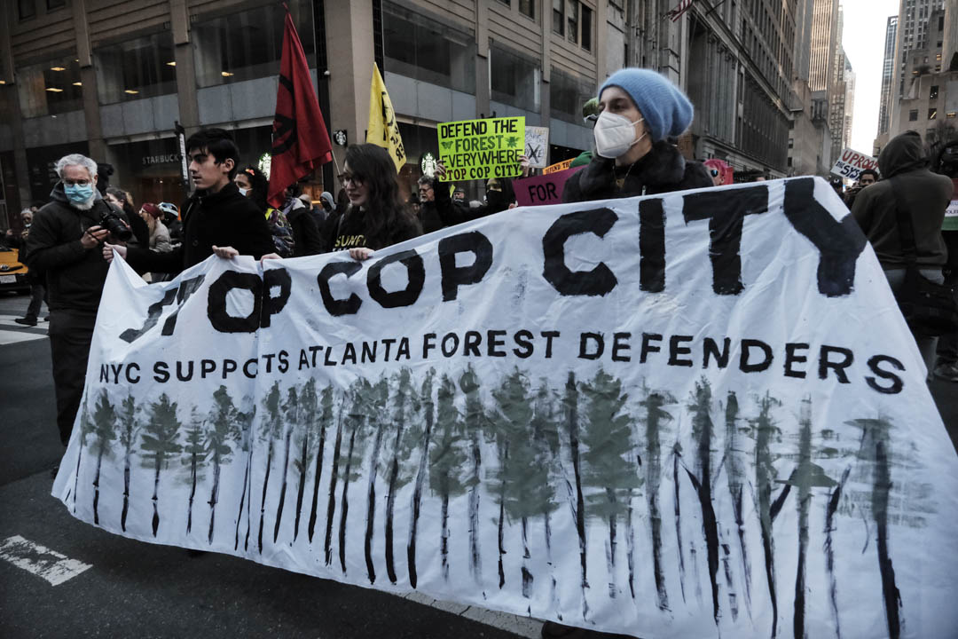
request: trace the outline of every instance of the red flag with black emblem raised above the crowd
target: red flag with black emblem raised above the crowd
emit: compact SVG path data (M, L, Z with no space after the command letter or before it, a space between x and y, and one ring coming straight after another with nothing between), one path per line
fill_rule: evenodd
M286 11L285 22L267 194L269 204L277 208L283 205L283 192L287 187L332 159L330 134L323 122L309 78L306 54L289 11Z

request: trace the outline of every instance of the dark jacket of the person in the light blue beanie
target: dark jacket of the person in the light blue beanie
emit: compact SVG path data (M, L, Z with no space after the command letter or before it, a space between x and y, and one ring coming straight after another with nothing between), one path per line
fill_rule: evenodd
M625 176L622 188L616 186L616 173ZM563 202L587 202L614 197L633 197L703 189L713 186L712 177L701 162L686 160L677 148L664 140L629 170L617 168L615 160L598 155L582 171L569 178L562 193Z

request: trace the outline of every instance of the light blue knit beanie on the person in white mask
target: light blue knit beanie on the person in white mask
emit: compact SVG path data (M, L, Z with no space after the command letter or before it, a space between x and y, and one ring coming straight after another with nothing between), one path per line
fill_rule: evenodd
M649 69L619 69L599 87L599 96L607 86L618 86L642 111L652 142L667 135L678 136L692 124L695 109L678 87Z

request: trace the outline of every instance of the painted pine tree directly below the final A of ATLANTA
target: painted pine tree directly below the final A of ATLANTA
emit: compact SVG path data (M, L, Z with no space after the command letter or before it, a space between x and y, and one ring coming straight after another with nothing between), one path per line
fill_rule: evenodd
M389 398L388 422L392 429L396 431L393 440L393 459L389 465L382 467L386 473L387 491L386 491L386 526L385 526L385 559L386 576L389 581L396 583L396 557L393 547L393 518L396 513L396 492L404 484L411 481L411 477L401 476L399 473L400 460L412 459L412 453L419 444L419 438L413 432L410 437L410 431L406 425L409 422L408 416L412 411L412 404L416 389L412 385L412 373L408 368L403 368L398 374L390 380L390 386L393 387L392 397ZM376 448L378 450L378 448Z

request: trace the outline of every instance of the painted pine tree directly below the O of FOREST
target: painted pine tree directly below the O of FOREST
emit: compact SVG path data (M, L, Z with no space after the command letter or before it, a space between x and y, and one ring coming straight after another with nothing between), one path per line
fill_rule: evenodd
M466 492L461 472L466 465L463 452L462 423L454 405L456 385L444 375L436 396L436 439L429 451L429 488L442 503L439 553L443 579L449 579L449 499Z

